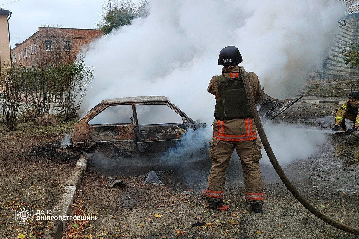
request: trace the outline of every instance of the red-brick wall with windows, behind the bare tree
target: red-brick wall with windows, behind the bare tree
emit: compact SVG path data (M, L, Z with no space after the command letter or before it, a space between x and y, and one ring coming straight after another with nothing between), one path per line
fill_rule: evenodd
M56 32L56 33L55 33ZM45 39L51 39L51 35L64 36L66 41L71 42L71 54L76 56L81 47L101 37L103 31L96 29L72 29L72 28L44 28L39 27L38 32L11 49L13 62L23 67L34 66L37 61L37 54L41 54L41 47ZM36 46L36 52L35 52ZM20 54L19 54L20 53ZM25 56L25 57L24 57Z

